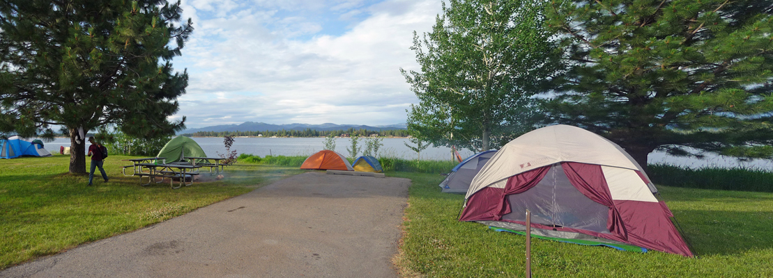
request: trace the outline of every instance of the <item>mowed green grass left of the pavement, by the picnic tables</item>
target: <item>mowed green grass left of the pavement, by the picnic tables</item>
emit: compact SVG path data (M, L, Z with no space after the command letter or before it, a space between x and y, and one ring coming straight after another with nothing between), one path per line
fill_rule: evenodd
M87 175L67 173L70 156L0 159L0 270L304 172L297 167L237 163L226 167L225 179L203 174L211 181L181 189L170 189L169 183L143 187L138 177L121 173L121 166L131 165L121 159L131 158L107 158L104 168L110 183L104 183L97 170L95 186L87 186Z

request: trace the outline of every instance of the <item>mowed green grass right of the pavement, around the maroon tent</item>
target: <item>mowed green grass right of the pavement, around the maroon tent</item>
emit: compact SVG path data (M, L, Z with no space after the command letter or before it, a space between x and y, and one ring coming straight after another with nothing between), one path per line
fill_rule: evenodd
M403 245L403 276L523 277L526 237L458 222L464 196L440 193L444 176L389 172L413 180ZM532 240L534 277L771 277L773 193L659 186L697 258L657 251Z

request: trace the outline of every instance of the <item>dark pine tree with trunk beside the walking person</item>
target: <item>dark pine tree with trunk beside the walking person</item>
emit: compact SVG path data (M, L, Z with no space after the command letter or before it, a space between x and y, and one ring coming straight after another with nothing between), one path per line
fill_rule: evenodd
M65 126L70 172L86 172L79 128L184 128L168 120L188 84L171 63L192 32L190 19L175 25L181 14L165 0L0 0L0 130L50 139Z

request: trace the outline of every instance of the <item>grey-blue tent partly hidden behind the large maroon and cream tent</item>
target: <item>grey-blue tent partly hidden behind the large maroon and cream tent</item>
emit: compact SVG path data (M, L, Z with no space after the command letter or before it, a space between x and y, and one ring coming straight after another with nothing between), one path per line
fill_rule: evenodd
M489 159L495 153L496 150L478 152L459 163L454 169L451 169L451 173L440 183L440 187L443 189L442 192L467 193L472 179L475 178L475 175L478 175L485 162L489 162Z

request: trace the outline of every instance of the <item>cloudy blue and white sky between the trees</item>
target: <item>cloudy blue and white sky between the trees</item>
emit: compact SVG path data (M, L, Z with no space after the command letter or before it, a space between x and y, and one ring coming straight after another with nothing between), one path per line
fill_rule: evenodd
M391 125L418 100L414 31L441 0L182 0L195 30L175 57L188 70L171 119L188 128L266 122Z

